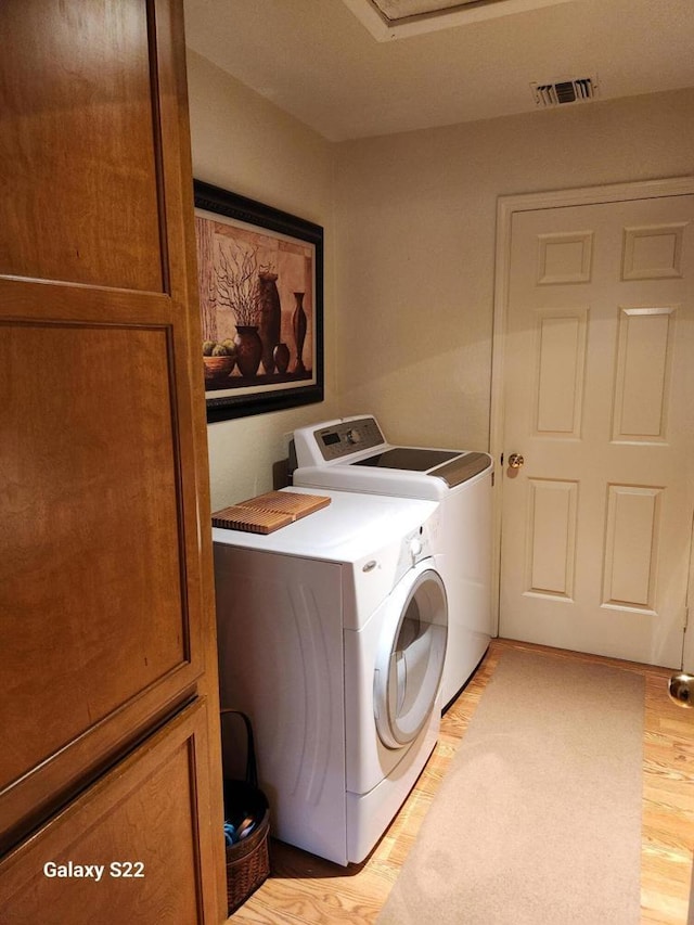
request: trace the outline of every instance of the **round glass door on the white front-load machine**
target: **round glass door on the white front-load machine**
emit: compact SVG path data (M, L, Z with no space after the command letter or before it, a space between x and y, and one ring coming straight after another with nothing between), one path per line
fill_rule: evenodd
M437 708L447 633L446 589L426 558L391 591L378 641L374 714L388 748L412 742Z

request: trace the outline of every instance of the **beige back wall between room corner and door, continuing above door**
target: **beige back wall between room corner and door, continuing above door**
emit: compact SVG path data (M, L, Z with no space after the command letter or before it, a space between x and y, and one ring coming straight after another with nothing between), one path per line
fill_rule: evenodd
M692 172L692 90L339 144L342 413L486 449L498 196Z

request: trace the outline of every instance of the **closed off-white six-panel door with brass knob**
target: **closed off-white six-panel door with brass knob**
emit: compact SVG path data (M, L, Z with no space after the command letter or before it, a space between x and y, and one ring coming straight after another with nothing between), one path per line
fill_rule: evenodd
M680 665L694 508L693 219L693 195L513 214L503 637Z

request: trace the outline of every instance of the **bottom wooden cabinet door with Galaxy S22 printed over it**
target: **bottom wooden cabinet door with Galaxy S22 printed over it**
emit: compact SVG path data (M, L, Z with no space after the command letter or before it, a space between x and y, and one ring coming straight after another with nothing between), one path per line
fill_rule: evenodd
M182 925L205 917L206 705L196 701L0 862L7 925ZM205 859L202 859L203 861ZM209 912L209 902L207 902Z

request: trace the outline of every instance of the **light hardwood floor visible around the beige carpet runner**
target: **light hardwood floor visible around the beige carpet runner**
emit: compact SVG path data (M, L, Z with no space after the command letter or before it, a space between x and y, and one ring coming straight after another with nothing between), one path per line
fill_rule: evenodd
M229 921L233 925L372 925L499 656L509 647L543 648L492 640L474 678L444 716L438 744L414 789L364 863L340 868L273 842L272 875ZM694 848L694 710L669 699L669 669L579 653L561 654L568 659L615 665L645 678L641 923L685 925Z

